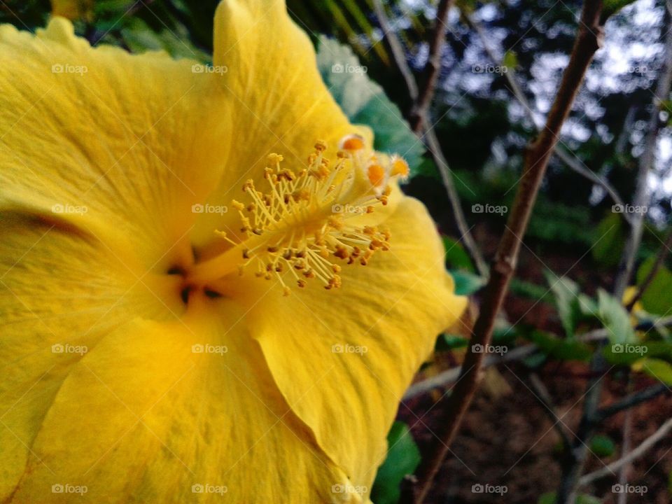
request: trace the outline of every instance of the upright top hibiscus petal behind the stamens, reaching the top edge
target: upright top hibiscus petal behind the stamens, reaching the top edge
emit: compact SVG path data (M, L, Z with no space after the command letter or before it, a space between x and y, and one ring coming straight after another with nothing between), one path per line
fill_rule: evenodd
M246 181L262 180L267 155L284 156L284 166L306 167L316 140L326 141L335 161L339 139L366 127L349 123L317 69L313 45L290 20L283 0L225 0L215 14L214 64L227 71L216 82L236 108L229 141L228 170L211 194L211 204L239 197ZM224 224L228 224L224 222ZM216 216L197 223L197 242L223 225ZM228 232L235 234L235 226ZM215 247L205 255L221 251Z

